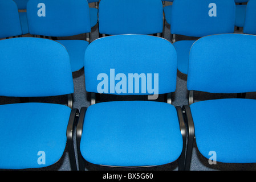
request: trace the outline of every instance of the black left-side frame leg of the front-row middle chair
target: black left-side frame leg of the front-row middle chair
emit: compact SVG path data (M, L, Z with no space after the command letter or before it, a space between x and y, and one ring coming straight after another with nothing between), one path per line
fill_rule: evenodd
M84 171L85 169L84 158L80 152L80 142L81 142L82 133L83 133L83 125L84 125L84 118L86 117L86 111L87 111L87 107L81 107L79 119L78 119L78 125L76 126L76 147L77 147L76 150L78 151L79 171Z

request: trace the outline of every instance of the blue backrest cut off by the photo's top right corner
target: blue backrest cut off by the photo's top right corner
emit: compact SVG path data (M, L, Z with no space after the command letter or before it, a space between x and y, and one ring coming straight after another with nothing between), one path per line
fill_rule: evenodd
M250 0L246 6L245 24L243 25L243 33L256 34L256 1Z

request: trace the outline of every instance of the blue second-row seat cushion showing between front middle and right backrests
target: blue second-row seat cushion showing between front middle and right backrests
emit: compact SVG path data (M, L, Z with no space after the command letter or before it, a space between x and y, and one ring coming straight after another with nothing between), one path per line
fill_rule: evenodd
M194 42L195 40L181 40L173 43L177 51L177 68L181 73L188 74L189 52Z

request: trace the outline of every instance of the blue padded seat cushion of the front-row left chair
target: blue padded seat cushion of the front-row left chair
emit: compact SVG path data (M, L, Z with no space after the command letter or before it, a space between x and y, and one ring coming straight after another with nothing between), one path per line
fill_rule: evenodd
M23 169L58 162L66 147L70 107L23 103L0 106L0 168ZM44 151L46 164L38 164Z

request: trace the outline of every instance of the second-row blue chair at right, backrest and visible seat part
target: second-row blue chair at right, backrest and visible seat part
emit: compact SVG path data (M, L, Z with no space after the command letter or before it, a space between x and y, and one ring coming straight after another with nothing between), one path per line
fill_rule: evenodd
M217 14L214 14L216 13ZM234 32L235 2L233 0L179 0L172 5L170 33L177 51L177 68L188 73L189 50L195 40L176 42L176 34L198 37Z

